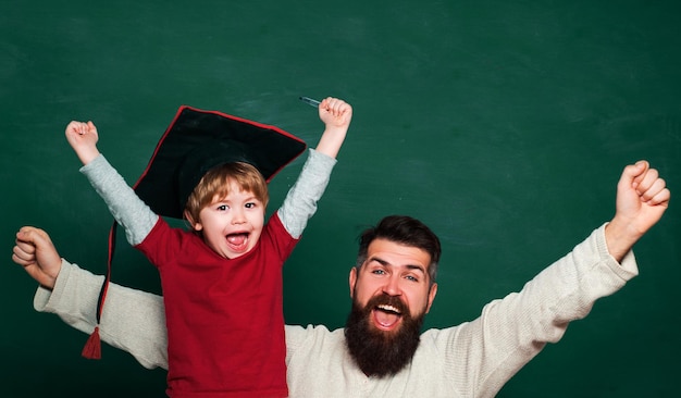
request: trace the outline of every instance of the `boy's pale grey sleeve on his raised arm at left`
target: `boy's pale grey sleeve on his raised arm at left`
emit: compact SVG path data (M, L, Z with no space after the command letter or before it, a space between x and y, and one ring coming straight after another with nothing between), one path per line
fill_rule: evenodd
M97 194L104 199L113 217L125 228L127 241L139 245L156 225L159 216L137 197L103 154L81 167Z

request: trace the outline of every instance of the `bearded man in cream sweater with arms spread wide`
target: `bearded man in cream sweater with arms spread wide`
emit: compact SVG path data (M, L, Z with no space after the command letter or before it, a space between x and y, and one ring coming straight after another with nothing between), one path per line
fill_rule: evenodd
M423 333L437 293L439 240L418 220L383 219L361 236L349 275L347 326L286 326L290 396L494 397L547 343L558 341L570 321L586 316L598 298L637 274L631 249L659 221L669 198L646 161L627 165L610 222L521 291L486 304L478 319ZM17 233L13 260L40 284L36 310L92 332L103 276L62 260L49 236L34 227ZM102 339L147 368L166 369L163 313L162 297L111 284Z

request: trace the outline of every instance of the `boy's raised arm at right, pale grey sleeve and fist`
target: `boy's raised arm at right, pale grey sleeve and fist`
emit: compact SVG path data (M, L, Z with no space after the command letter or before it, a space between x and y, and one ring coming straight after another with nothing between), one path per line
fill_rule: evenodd
M335 158L350 126L352 108L343 100L329 97L320 103L319 116L324 122L324 133L317 149L310 149L296 184L288 190L277 211L282 224L296 239L302 235L308 220L317 211L317 202L329 185L336 164Z

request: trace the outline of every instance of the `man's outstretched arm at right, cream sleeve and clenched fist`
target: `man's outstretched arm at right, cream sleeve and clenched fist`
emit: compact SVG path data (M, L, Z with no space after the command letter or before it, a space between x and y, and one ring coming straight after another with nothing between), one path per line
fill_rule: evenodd
M560 340L570 322L586 316L596 300L637 275L631 249L659 221L669 198L665 181L647 162L626 166L609 223L520 293L485 306L475 321L424 338L434 338L448 352L453 377L473 383L468 390L494 396L547 343ZM459 366L461 362L468 365Z

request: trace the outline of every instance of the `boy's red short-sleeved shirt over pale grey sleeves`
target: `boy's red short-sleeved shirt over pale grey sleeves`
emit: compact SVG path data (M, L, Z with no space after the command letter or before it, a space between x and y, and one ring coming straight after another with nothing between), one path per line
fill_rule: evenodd
M250 252L225 259L159 217L137 248L161 275L169 396L288 396L282 266L297 242L275 213Z

